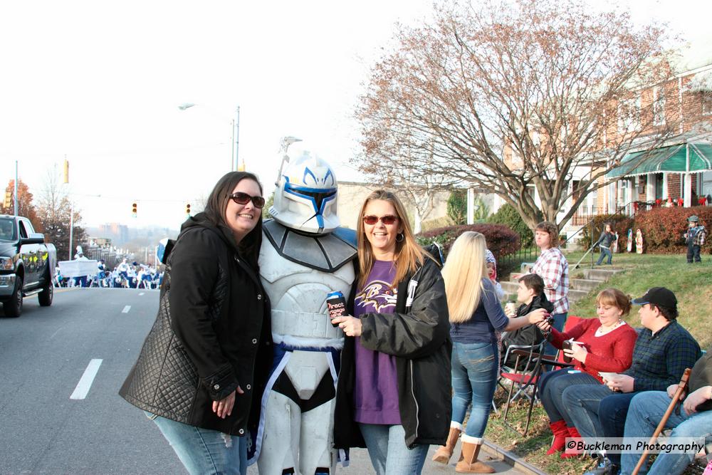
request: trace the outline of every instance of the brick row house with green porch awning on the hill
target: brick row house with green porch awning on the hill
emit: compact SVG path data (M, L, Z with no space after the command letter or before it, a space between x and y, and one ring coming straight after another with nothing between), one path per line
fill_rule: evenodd
M607 174L620 179L599 190L597 212L712 202L712 51L687 61L675 78L642 90L640 103L654 125L674 121L679 136L652 150L631 150Z

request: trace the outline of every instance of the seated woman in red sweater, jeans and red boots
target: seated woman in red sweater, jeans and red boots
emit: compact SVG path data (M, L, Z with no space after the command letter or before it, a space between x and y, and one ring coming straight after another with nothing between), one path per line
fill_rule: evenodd
M547 455L564 449L566 437L580 437L568 414L561 395L566 387L590 385L603 380L598 372L622 372L630 367L636 331L621 318L630 311L630 298L617 288L607 288L596 297L598 318L587 318L574 328L562 333L540 323L542 330L550 330L550 342L559 350L565 340L574 340L564 355L572 358L573 368L562 368L543 374L539 379L539 396L549 416L554 442ZM562 454L566 458L567 454ZM573 455L570 455L573 456Z

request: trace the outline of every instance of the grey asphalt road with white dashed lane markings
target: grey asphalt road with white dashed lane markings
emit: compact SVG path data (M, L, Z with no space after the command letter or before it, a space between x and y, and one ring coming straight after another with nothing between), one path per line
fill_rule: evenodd
M51 307L31 297L20 318L0 316L0 474L185 473L155 424L117 395L157 308L156 291L62 289ZM85 397L70 399L97 365ZM365 450L338 472L375 473ZM454 469L428 461L424 473Z

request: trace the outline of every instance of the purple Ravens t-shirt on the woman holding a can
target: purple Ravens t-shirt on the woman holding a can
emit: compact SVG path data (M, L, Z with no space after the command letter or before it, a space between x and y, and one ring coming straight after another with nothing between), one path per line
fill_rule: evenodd
M396 290L390 288L395 274L394 262L373 263L366 285L356 293L355 317L365 313L395 312ZM354 409L356 422L401 423L395 357L363 348L359 337L356 338Z

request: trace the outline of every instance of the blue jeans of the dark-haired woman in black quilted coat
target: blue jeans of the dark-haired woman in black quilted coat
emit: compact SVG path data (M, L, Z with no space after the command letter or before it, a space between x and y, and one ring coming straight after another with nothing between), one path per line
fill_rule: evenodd
M191 475L247 473L245 437L201 429L145 412Z

